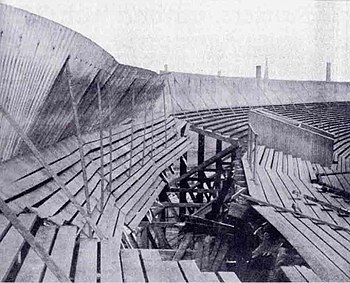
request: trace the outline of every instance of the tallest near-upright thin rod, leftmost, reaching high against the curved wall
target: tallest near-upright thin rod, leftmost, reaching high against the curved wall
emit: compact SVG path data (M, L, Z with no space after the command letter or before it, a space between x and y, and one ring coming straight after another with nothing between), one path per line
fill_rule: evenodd
M85 156L84 156L84 144L83 140L81 138L81 129L79 124L79 116L78 116L78 106L77 102L75 100L73 90L72 90L72 79L71 79L71 73L69 69L69 61L66 64L66 73L67 73L67 79L68 79L68 89L69 89L69 95L72 102L72 108L73 108L73 116L74 116L74 123L75 128L77 131L77 139L78 139L78 145L79 145L79 155L80 155L80 163L82 167L82 173L83 173L83 181L84 181L84 192L85 192L85 199L86 199L86 209L87 214L90 216L91 214L91 207L90 207L90 194L89 194L89 187L88 187L88 179L86 174L86 164L85 164ZM92 230L90 225L89 226L89 237L92 238Z

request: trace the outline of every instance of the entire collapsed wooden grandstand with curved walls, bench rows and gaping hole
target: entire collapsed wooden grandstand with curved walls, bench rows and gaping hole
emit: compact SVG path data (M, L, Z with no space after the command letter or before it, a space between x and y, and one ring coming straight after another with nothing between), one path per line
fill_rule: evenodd
M349 281L350 83L158 75L0 19L1 281Z

